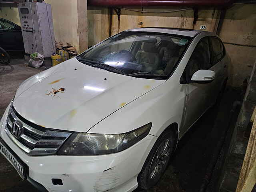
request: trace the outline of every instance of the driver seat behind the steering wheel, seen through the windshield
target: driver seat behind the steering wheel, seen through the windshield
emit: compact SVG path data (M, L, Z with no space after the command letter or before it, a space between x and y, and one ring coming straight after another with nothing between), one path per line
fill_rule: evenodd
M143 49L138 51L135 58L138 64L142 64L145 72L155 72L160 64L160 55L156 48L156 39L143 41Z

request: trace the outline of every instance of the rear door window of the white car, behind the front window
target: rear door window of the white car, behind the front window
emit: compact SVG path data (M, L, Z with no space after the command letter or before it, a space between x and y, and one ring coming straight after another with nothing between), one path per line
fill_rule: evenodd
M211 37L212 44L212 64L216 64L224 56L224 47L218 38Z

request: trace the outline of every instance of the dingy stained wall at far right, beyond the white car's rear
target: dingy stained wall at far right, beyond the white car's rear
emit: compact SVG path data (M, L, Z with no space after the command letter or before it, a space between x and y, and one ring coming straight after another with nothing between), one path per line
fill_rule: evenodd
M228 9L220 31L223 42L256 46L256 4L236 5ZM225 44L232 66L228 83L241 86L250 76L256 58L256 48Z

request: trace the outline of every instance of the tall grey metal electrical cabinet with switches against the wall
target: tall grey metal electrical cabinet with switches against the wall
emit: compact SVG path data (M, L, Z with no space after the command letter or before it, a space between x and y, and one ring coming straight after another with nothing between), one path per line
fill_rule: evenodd
M18 3L26 54L38 52L45 58L55 54L52 7L47 3Z

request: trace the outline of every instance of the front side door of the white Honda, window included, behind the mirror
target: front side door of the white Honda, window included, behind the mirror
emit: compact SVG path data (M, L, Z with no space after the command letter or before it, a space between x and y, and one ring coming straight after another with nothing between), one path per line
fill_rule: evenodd
M187 82L186 109L181 135L209 108L209 100L212 100L214 82L202 84L191 81L192 75L201 69L213 70L211 67L210 42L208 37L204 37L198 42L184 71Z

